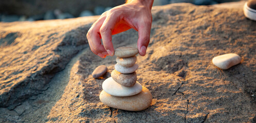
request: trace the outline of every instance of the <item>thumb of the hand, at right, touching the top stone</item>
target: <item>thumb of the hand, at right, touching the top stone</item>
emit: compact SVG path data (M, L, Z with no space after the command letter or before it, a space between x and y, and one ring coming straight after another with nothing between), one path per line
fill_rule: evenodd
M139 54L141 56L146 55L146 50L150 41L150 29L151 29L151 22L140 23L140 25L138 25L139 38L137 42L137 47L139 50Z

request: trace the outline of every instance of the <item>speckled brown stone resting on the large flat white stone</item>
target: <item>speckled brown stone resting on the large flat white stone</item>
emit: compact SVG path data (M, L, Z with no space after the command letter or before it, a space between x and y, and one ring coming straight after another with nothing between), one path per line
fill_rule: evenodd
M123 74L118 72L117 70L113 70L111 72L111 77L120 85L125 87L132 87L136 84L137 74L136 72L130 74Z

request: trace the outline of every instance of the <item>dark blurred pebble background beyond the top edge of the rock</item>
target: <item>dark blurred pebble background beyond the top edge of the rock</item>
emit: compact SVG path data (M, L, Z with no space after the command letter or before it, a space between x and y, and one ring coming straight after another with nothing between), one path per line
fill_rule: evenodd
M214 5L239 0L154 0L153 6L172 3ZM35 21L100 15L124 0L1 0L0 21Z

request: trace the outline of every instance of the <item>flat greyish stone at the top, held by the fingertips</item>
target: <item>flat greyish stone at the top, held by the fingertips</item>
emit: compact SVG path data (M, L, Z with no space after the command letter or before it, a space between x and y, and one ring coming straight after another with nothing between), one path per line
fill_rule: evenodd
M115 55L117 57L131 57L138 53L138 49L133 47L119 47L115 50Z

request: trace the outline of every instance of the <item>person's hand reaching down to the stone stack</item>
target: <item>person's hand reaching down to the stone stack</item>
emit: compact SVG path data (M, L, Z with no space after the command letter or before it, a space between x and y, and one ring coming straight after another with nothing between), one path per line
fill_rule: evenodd
M113 56L111 35L133 28L138 31L139 54L144 56L150 39L152 4L153 0L133 0L104 12L87 33L91 51L102 58L107 55Z

